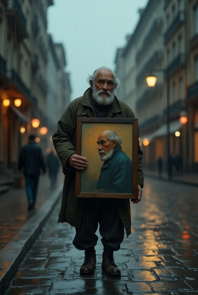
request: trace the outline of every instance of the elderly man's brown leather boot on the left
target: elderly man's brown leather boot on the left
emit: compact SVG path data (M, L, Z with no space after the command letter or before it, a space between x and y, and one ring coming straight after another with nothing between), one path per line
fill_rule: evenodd
M96 255L95 249L90 249L85 251L85 260L83 265L80 268L81 275L91 275L94 273L96 265Z

